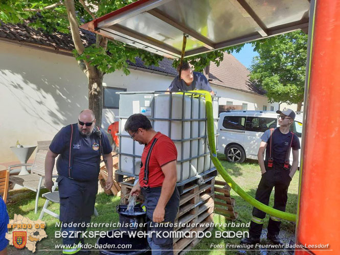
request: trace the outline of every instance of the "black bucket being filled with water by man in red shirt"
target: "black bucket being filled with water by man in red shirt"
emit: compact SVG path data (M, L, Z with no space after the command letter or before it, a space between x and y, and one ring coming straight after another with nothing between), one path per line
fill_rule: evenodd
M119 222L121 231L146 231L146 212L140 204L136 204L133 207L133 214L126 213L127 204L119 204L116 207L117 213L119 214Z

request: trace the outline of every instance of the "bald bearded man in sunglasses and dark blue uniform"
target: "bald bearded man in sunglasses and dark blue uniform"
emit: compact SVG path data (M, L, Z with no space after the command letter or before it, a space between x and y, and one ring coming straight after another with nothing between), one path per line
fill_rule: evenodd
M106 189L110 189L112 180L112 147L104 132L95 126L95 115L91 110L83 110L78 123L63 127L53 138L45 159L45 187L53 186L52 171L57 160L58 190L60 197L60 221L62 223L85 223L76 226L62 225L61 231L74 234L73 231L85 231L94 213L98 191L100 156L106 162L108 179ZM76 248L64 248L64 254L87 254L81 245L81 235L63 238L63 244L78 245Z

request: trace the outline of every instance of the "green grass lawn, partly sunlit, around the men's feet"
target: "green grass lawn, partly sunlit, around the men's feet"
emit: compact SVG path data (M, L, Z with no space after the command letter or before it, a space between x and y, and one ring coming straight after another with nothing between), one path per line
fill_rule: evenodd
M260 167L258 166L257 161L255 160L247 160L243 164L231 164L225 161L225 157L222 154L218 155L222 165L226 169L226 171L232 176L232 178L239 184L239 186L248 194L255 197L255 192L258 186L258 183L261 178ZM297 211L297 202L298 202L298 182L299 182L299 172L293 177L290 187L288 190L288 202L286 212L296 214ZM221 176L217 176L216 179L223 180ZM47 192L47 190L42 190L41 193ZM13 219L14 214L21 214L30 218L31 220L37 220L39 217L39 213L41 212L41 208L45 202L43 198L39 199L39 208L38 214L34 214L34 202L35 202L35 193L29 190L17 190L10 191L10 202L8 203L8 212L10 215L10 219ZM231 196L235 198L236 206L235 211L238 212L238 219L235 223L248 223L251 220L252 216L252 206L245 202L239 195L237 195L233 190L231 191ZM114 196L107 196L105 193L100 193L97 195L96 200L96 208L99 213L99 217L93 217L92 221L97 223L104 222L119 222L119 216L116 213L116 205L119 204L120 198ZM270 197L270 206L274 204L274 192ZM59 214L59 204L50 203L49 209ZM266 226L268 224L268 215L265 219L264 223L264 231L262 233L262 243L268 243L265 239L266 235ZM47 251L54 249L55 244L61 244L61 238L55 238L55 231L58 231L59 228L56 227L57 219L52 216L45 214L43 221L46 222L46 233L48 235L47 238L41 240L36 245L36 254L61 254L60 251ZM230 221L226 221L223 216L215 214L214 216L215 223L228 223ZM110 228L88 228L87 230L110 230ZM225 247L225 244L238 244L240 242L240 238L215 238L215 231L247 231L246 227L215 227L212 233L211 238L202 239L202 241L194 247L194 251L190 251L188 254L284 254L286 252L283 251L225 251L224 248L211 248L212 244L220 244ZM295 223L282 221L281 224L281 237L285 242L289 242L289 240L294 240L294 232L295 232ZM97 241L96 238L93 239L85 239L85 243L95 244ZM18 250L13 246L9 247L9 254L18 254ZM20 254L31 254L31 252L24 250L20 251ZM92 254L99 254L98 251L92 251Z

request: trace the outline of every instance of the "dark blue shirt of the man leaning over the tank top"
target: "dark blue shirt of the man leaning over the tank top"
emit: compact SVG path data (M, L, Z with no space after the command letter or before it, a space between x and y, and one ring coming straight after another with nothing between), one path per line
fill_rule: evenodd
M191 91L191 90L206 90L206 91L212 91L211 86L207 80L207 78L202 74L198 72L193 72L194 80L192 83L187 86L185 81L183 79L178 80L178 75L175 77L175 79L171 82L171 85L169 86L170 91L176 91L176 90L182 90L182 91Z

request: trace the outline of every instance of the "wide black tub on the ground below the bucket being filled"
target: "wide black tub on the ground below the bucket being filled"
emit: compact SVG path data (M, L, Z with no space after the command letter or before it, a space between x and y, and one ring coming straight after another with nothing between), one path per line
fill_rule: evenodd
M97 240L97 245L104 247L104 245L111 245L118 247L120 245L120 249L112 249L112 248L100 248L99 254L102 255L138 255L138 254L151 254L151 249L149 247L148 241L146 238L130 238L128 235L122 235L122 238L115 238L114 233L120 231L119 229L114 229L108 231L108 236L100 237ZM125 247L123 248L124 245Z

